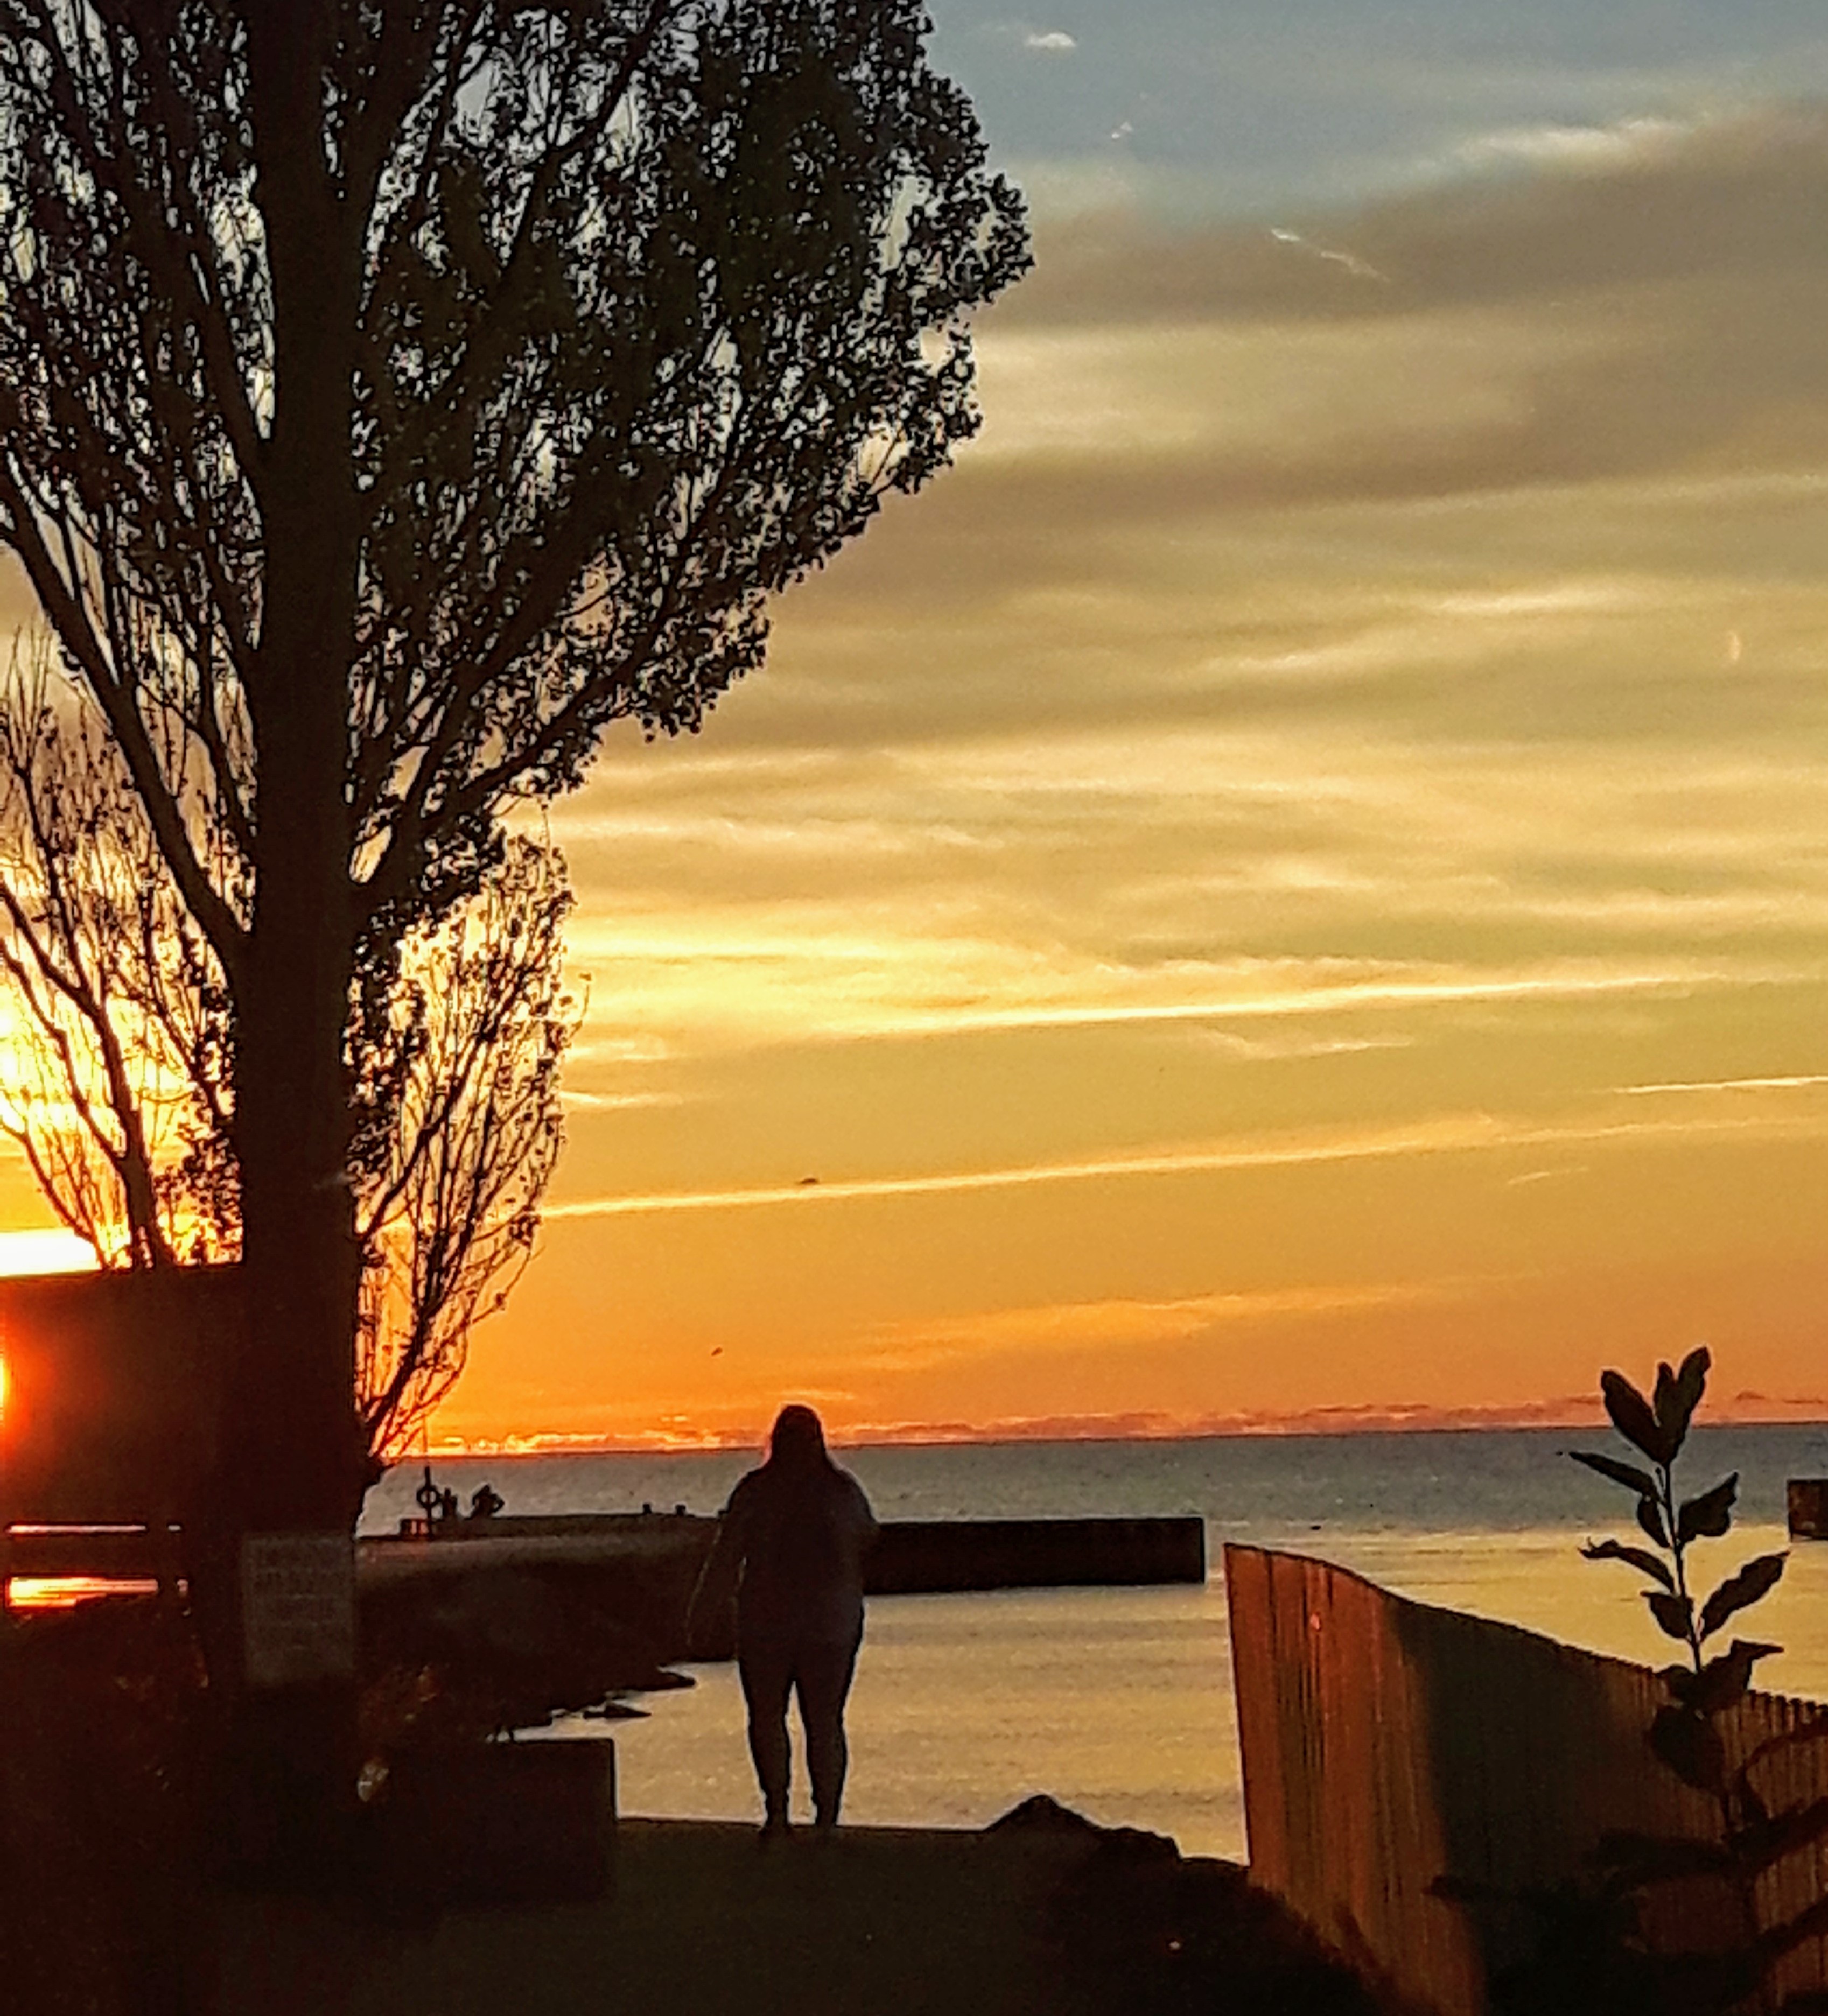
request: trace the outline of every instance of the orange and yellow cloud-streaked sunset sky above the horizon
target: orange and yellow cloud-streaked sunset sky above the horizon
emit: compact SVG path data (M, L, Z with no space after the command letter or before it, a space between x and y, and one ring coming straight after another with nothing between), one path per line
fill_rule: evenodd
M570 1145L435 1433L1828 1395L1818 0L933 12L982 437L554 808Z

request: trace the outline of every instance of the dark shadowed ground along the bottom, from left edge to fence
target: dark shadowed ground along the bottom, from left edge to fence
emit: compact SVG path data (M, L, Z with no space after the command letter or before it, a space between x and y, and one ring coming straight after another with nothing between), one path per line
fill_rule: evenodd
M768 1847L748 1826L623 1820L603 1895L572 1903L224 1891L185 1792L193 1689L183 1635L131 1611L0 1657L4 2016L1377 2010L1239 1867L1046 1798L984 1833Z

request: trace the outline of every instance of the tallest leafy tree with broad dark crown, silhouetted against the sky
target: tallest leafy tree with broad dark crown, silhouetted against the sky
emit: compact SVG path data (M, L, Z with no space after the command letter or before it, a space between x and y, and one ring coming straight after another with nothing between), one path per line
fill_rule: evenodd
M0 542L228 1006L244 1528L367 1478L351 1022L973 427L917 0L0 0Z

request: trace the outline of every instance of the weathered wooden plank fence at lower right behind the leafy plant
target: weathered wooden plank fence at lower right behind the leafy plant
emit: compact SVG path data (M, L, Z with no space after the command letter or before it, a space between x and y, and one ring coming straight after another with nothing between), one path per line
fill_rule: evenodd
M1578 1877L1610 1831L1717 1839L1713 1800L1647 1748L1663 1681L1534 1631L1409 1603L1302 1554L1225 1548L1252 1877L1417 2010L1485 2016L1522 1958L1520 1903L1467 1907L1437 1879L1514 1897ZM1822 1704L1749 1693L1719 1718L1729 1764ZM1828 1794L1828 1740L1753 1764L1778 1810ZM1759 1925L1828 1893L1828 1849L1759 1879ZM1727 1943L1725 1899L1667 1887L1647 1931L1667 1949ZM1782 1964L1784 1992L1828 1988L1828 1941Z

